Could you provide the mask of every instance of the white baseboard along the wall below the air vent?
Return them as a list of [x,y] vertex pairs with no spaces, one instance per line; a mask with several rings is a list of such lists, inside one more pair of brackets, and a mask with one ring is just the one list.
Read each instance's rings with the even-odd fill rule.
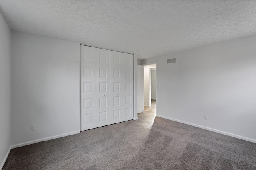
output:
[[189,123],[189,122],[181,121],[181,120],[178,120],[178,119],[172,119],[172,118],[170,118],[170,117],[165,117],[165,116],[161,116],[161,115],[157,115],[157,116],[158,116],[158,117],[162,117],[162,118],[164,118],[164,119],[168,119],[168,120],[172,120],[172,121],[184,123],[184,124],[187,124],[187,125],[199,127],[199,128],[202,128],[202,129],[206,129],[206,130],[208,130],[208,131],[213,131],[213,132],[216,132],[216,133],[221,133],[221,134],[223,134],[223,135],[228,135],[228,136],[231,136],[231,137],[235,137],[235,138],[238,138],[238,139],[243,139],[243,140],[245,140],[245,141],[249,141],[249,142],[256,143],[256,139],[251,139],[251,138],[243,137],[243,136],[236,135],[236,134],[233,134],[233,133],[228,133],[228,132],[220,131],[220,130],[217,130],[217,129],[212,129],[212,128],[210,128],[210,127],[205,127],[205,126],[201,126],[201,125],[196,125],[196,124],[194,124],[194,123]]

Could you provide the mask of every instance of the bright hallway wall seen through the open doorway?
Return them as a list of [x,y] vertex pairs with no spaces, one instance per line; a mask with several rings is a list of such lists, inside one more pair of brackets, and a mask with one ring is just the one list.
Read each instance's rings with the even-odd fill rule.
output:
[[156,64],[144,66],[144,106],[149,106],[149,102],[151,100],[149,98],[149,90],[150,90],[149,69],[150,68],[156,68]]

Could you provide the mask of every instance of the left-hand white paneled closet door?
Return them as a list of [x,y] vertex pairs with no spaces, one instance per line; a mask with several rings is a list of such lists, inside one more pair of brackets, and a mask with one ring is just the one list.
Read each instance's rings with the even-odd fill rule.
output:
[[110,51],[81,45],[81,131],[110,124]]

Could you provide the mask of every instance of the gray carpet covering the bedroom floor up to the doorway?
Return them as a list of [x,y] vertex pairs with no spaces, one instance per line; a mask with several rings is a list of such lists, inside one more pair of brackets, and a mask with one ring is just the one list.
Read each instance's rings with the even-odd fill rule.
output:
[[4,170],[256,170],[256,143],[154,117],[12,149]]

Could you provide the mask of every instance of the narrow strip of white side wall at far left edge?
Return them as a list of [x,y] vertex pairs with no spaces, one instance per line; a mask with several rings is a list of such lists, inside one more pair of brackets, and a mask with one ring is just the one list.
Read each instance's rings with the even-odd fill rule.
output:
[[0,169],[11,146],[11,30],[0,13]]

